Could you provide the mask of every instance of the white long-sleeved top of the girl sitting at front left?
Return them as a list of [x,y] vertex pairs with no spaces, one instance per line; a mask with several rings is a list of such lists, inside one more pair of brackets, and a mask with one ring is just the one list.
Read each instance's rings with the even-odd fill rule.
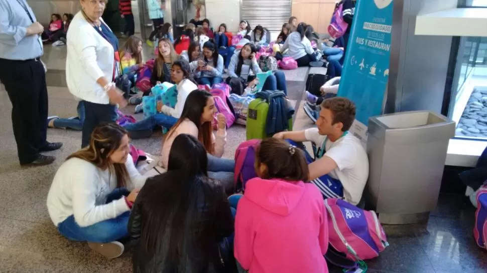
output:
[[[147,177],[136,169],[132,157],[127,162],[127,189],[141,188]],[[59,167],[47,195],[47,210],[57,226],[71,215],[79,226],[89,226],[129,211],[125,198],[105,204],[106,197],[116,188],[116,177],[92,163],[71,158]]]

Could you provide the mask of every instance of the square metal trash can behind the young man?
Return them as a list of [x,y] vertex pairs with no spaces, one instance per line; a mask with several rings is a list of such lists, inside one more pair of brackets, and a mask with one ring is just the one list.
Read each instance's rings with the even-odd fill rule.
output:
[[455,122],[428,111],[369,119],[368,205],[385,224],[425,223],[436,208]]

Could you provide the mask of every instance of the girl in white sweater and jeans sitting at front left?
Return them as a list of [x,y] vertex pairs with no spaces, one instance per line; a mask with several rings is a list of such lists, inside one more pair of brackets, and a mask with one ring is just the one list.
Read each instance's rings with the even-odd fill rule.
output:
[[47,196],[49,216],[59,233],[88,241],[108,258],[124,252],[118,240],[129,235],[130,210],[146,182],[129,151],[124,128],[115,123],[97,126],[89,145],[58,169]]

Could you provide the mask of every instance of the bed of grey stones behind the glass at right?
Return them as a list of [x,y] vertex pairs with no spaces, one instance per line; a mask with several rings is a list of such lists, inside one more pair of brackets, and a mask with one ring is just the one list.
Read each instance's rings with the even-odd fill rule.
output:
[[487,87],[475,87],[456,127],[457,136],[487,138]]

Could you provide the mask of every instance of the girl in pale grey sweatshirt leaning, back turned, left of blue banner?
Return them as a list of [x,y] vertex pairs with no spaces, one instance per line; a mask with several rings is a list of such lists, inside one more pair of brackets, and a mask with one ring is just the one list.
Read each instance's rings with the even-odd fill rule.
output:
[[296,60],[299,67],[309,66],[310,62],[316,61],[311,42],[305,36],[306,26],[306,23],[299,23],[296,31],[288,36],[281,49],[282,52],[289,49],[286,55]]

